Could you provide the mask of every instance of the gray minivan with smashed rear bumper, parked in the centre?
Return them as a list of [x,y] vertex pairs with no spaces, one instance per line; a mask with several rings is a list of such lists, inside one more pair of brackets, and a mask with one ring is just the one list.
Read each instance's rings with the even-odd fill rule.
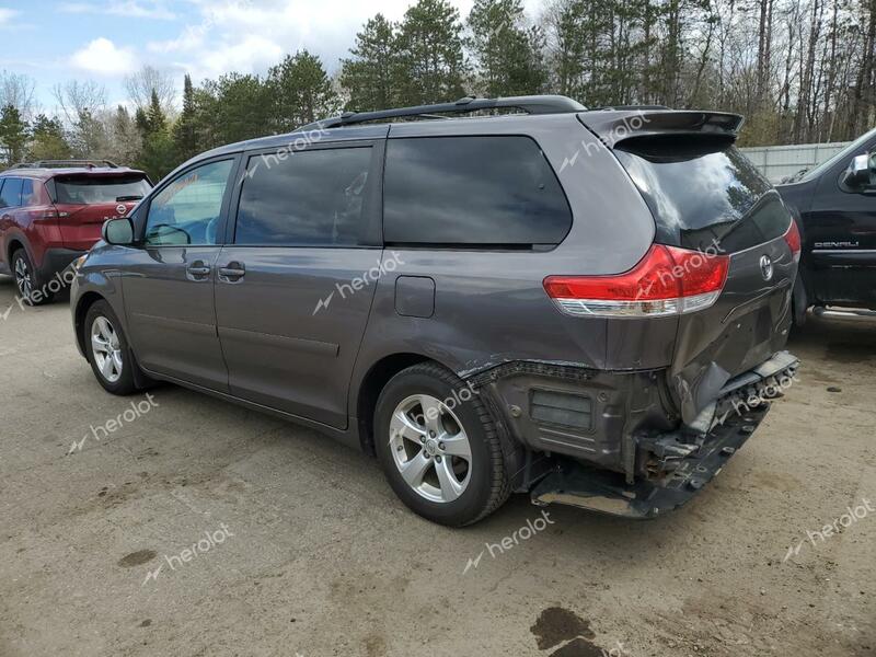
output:
[[740,125],[469,97],[222,147],[76,263],[76,339],[111,393],[170,381],[376,454],[436,522],[512,492],[654,517],[797,367],[796,226]]

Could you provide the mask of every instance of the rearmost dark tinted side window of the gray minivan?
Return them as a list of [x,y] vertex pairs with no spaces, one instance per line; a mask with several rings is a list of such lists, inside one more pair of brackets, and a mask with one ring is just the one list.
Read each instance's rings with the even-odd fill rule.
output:
[[527,137],[390,139],[383,237],[389,243],[558,244],[572,212]]

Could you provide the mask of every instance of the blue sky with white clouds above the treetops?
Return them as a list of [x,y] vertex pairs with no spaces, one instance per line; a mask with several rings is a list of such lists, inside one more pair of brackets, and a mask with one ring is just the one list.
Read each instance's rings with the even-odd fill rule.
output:
[[[463,18],[472,0],[451,0]],[[264,72],[308,48],[336,70],[356,32],[378,12],[399,20],[412,0],[0,0],[0,69],[36,81],[43,110],[69,80],[126,100],[124,78],[143,65],[195,82],[228,71]],[[539,0],[527,7],[538,8]]]

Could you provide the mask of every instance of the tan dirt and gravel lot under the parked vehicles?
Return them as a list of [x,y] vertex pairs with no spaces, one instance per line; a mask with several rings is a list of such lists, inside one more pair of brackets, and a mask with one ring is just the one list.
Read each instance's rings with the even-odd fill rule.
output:
[[[0,277],[0,316],[12,301]],[[104,393],[66,303],[14,306],[0,656],[876,655],[876,325],[817,322],[792,349],[800,381],[681,511],[546,523],[517,497],[453,531],[310,430]]]

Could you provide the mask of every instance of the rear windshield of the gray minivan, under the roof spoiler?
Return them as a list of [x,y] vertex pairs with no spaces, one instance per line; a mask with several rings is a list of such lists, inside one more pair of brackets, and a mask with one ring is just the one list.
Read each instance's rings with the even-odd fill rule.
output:
[[614,152],[648,204],[660,243],[736,252],[791,226],[772,185],[726,138],[629,139]]

